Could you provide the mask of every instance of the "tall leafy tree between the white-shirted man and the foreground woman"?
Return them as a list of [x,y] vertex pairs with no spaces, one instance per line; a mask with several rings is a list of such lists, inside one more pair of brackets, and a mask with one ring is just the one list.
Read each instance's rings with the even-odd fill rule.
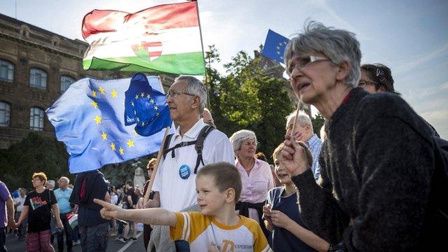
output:
[[259,67],[260,58],[238,52],[225,64],[227,76],[221,76],[211,63],[218,62],[214,45],[207,52],[207,82],[210,109],[219,130],[229,137],[237,130],[253,130],[258,151],[267,157],[283,141],[285,117],[293,110],[283,85],[285,80],[267,76]]

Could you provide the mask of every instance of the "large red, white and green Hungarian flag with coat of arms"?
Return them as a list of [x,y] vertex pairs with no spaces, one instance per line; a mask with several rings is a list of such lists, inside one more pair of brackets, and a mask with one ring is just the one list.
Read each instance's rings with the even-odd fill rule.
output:
[[126,13],[92,10],[83,20],[90,44],[85,70],[204,75],[195,1]]

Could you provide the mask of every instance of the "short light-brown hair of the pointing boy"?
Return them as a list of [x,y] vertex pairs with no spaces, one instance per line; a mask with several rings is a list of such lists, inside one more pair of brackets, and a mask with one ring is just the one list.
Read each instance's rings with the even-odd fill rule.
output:
[[213,176],[215,186],[222,193],[229,188],[235,190],[235,203],[238,202],[241,195],[241,176],[239,175],[237,167],[228,162],[217,162],[215,164],[206,165],[197,172],[196,179],[200,176]]

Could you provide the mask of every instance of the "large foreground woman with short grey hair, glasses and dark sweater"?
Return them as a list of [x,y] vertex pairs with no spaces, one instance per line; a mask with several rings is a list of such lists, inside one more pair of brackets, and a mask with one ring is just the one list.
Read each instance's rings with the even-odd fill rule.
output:
[[441,153],[398,95],[356,87],[360,57],[354,34],[316,22],[286,46],[295,94],[328,120],[319,186],[304,149],[289,136],[284,142],[300,214],[330,250],[431,250],[445,236],[435,230],[447,227],[446,191],[432,179],[444,168]]

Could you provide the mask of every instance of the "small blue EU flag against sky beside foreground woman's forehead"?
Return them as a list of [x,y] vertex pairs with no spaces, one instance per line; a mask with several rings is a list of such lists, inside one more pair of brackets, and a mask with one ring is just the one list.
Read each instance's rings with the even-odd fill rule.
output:
[[285,48],[288,42],[288,38],[269,29],[261,54],[274,59],[276,62],[283,63],[283,55],[285,54]]

